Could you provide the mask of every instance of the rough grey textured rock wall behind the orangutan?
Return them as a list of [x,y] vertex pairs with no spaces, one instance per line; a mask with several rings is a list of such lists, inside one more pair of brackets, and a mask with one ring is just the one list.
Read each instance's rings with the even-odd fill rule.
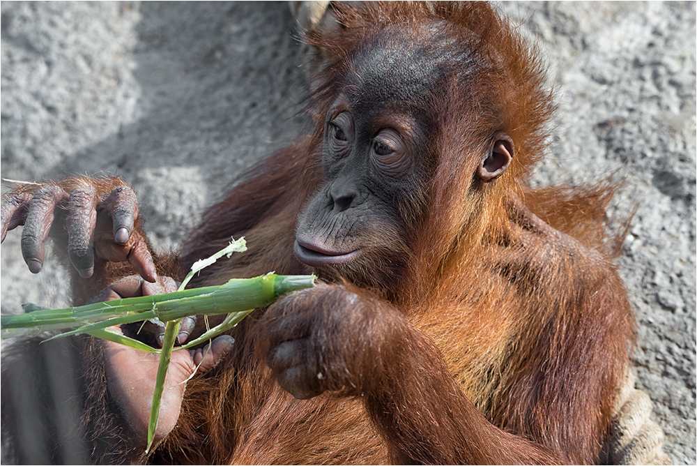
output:
[[[504,3],[538,36],[560,93],[540,183],[629,180],[640,207],[620,260],[638,318],[637,384],[675,463],[695,460],[695,3]],[[1,174],[115,173],[146,230],[176,247],[236,174],[305,128],[284,3],[3,1]],[[1,251],[2,312],[67,303],[19,232]]]

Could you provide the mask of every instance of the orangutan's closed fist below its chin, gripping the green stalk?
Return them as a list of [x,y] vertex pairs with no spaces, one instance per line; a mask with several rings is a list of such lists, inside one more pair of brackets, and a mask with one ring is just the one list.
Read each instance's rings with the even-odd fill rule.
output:
[[[257,350],[295,398],[324,391],[357,396],[379,379],[385,356],[411,332],[388,303],[342,285],[318,285],[273,303],[259,324]],[[399,354],[399,353],[397,353]]]

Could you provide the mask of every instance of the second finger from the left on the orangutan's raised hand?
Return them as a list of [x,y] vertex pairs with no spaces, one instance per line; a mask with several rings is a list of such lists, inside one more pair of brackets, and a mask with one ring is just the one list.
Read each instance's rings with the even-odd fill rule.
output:
[[44,241],[51,230],[56,204],[66,200],[68,193],[59,186],[38,190],[29,202],[29,211],[22,230],[22,257],[31,273],[39,273],[44,261]]

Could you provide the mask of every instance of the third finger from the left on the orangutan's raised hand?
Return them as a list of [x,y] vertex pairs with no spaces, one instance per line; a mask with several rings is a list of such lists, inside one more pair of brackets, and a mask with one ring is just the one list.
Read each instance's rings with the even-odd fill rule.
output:
[[85,184],[70,193],[68,257],[82,278],[94,272],[94,227],[97,223],[97,191]]

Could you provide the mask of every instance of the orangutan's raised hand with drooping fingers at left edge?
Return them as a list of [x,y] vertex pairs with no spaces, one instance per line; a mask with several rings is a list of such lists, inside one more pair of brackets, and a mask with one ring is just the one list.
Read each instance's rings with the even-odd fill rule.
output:
[[95,259],[128,261],[155,283],[157,273],[146,236],[138,227],[138,202],[130,186],[116,177],[75,176],[55,183],[27,183],[3,196],[2,236],[24,225],[22,257],[32,273],[41,271],[44,243],[51,236],[83,278]]

